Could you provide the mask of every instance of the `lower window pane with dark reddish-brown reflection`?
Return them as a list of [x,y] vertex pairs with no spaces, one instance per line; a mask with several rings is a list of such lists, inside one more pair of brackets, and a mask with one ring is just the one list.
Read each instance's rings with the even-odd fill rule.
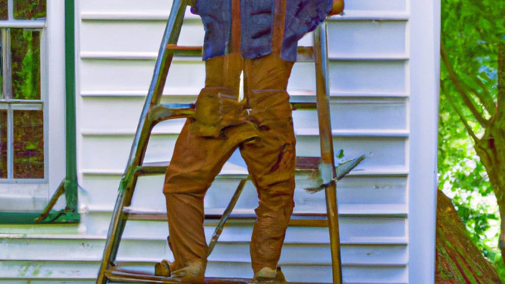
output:
[[42,111],[14,111],[14,178],[44,178]]

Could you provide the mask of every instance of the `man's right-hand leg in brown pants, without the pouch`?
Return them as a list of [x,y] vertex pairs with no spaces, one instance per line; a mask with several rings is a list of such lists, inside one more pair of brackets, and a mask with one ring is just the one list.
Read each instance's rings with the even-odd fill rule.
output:
[[286,92],[292,66],[278,55],[244,62],[249,119],[260,129],[259,138],[240,147],[260,199],[250,245],[255,277],[264,268],[275,277],[294,206],[295,136]]

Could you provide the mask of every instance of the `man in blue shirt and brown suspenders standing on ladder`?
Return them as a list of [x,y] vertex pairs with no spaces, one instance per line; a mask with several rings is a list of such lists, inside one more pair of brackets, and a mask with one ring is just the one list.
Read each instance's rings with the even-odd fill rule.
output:
[[[259,196],[250,245],[255,280],[284,280],[277,271],[293,211],[295,135],[286,92],[297,41],[343,0],[196,0],[192,12],[205,27],[205,87],[195,118],[175,145],[163,193],[175,261],[156,274],[167,280],[204,282],[207,243],[204,196],[237,149]],[[240,73],[244,100],[238,100]]]

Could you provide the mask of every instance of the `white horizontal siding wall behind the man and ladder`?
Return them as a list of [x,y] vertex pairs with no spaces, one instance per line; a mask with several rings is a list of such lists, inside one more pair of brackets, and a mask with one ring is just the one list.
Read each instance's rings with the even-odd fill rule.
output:
[[[367,155],[362,165],[338,183],[343,276],[346,282],[373,279],[377,283],[407,283],[408,21],[405,11],[402,19],[395,16],[380,23],[371,21],[378,13],[369,4],[358,6],[361,11],[351,10],[350,4],[346,11],[349,20],[337,16],[328,22],[335,149],[343,149],[347,159]],[[142,11],[134,10],[138,6],[135,3],[131,3],[132,10],[126,10],[127,5],[122,4],[122,11],[114,7],[105,11],[107,8],[95,6],[92,1],[82,3],[79,168],[81,185],[88,192],[88,210],[96,212],[108,212],[114,204],[165,28],[166,15],[156,9],[160,6],[153,4],[153,11],[157,12],[147,16],[146,6],[150,4],[142,4]],[[164,8],[167,13],[168,8]],[[201,22],[194,15],[187,16],[180,44],[201,45]],[[311,35],[300,44],[312,44]],[[193,102],[204,79],[203,62],[175,58],[164,101]],[[314,90],[314,64],[295,64],[288,85],[292,100],[314,100]],[[182,124],[183,120],[177,120],[155,128],[146,161],[171,158]],[[294,124],[297,155],[318,156],[315,111],[295,111]],[[227,205],[238,179],[246,174],[243,166],[239,155],[234,155],[223,169],[224,175],[209,190],[205,203],[208,210]],[[141,178],[132,207],[164,212],[162,184],[163,176]],[[297,177],[295,212],[325,212],[324,194],[309,195],[304,184],[311,183],[307,177]],[[257,200],[249,182],[236,208],[252,212]],[[127,232],[132,232],[129,225]],[[250,276],[251,225],[234,224],[224,230],[221,243],[209,259],[207,275]],[[135,238],[155,238],[165,247],[166,224],[161,222],[159,226],[162,228],[156,232],[146,227],[149,233],[135,233]],[[209,226],[208,234],[211,233]],[[313,254],[309,256],[304,251]],[[170,252],[163,252],[170,257]],[[380,260],[378,252],[382,255]],[[327,228],[289,228],[280,262],[288,279],[330,281],[329,253]],[[122,257],[126,256],[120,253],[118,258]],[[147,253],[138,251],[136,257],[141,260]],[[135,256],[131,258],[134,260]],[[156,257],[150,259],[154,261]],[[311,271],[315,270],[320,271],[318,279],[311,278]]]

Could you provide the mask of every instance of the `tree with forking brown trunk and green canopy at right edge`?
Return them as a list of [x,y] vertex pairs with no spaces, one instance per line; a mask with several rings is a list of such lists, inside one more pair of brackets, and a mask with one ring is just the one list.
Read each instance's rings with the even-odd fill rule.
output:
[[[442,0],[441,107],[472,140],[501,217],[505,259],[505,1]],[[446,104],[446,105],[445,105]],[[447,114],[445,113],[445,114]],[[441,115],[443,115],[441,111]],[[455,120],[455,117],[441,116]],[[449,122],[450,123],[450,122]],[[461,135],[462,133],[456,133]],[[442,138],[443,139],[443,138]],[[486,190],[484,190],[485,193]]]

